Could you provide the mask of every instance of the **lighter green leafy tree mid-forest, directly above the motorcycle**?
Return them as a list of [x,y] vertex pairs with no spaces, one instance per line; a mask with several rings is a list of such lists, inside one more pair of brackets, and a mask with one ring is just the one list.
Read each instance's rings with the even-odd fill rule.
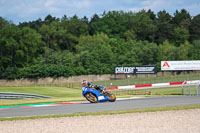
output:
[[113,53],[107,35],[81,36],[76,52],[78,65],[83,66],[88,74],[111,72]]

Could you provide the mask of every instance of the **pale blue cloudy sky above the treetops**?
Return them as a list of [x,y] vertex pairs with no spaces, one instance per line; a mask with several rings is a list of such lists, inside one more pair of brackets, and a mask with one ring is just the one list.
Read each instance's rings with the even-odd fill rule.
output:
[[66,15],[89,19],[104,11],[133,11],[151,9],[154,13],[166,10],[173,15],[186,9],[191,16],[200,14],[200,0],[0,0],[0,16],[15,24],[44,19],[47,15],[62,18]]

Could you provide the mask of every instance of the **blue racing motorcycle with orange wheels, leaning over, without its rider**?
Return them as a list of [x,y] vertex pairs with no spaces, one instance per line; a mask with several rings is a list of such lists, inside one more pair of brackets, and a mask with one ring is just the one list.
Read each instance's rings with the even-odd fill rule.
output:
[[103,90],[101,93],[100,91],[96,90],[95,88],[82,88],[82,95],[90,102],[90,103],[97,103],[97,102],[114,102],[116,100],[115,95],[108,93],[106,88],[101,86]]

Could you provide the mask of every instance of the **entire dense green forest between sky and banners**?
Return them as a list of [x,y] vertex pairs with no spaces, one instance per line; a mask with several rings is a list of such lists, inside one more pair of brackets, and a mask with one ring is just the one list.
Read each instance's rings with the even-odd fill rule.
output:
[[0,79],[110,74],[115,66],[200,59],[200,14],[109,11],[13,24],[0,17]]

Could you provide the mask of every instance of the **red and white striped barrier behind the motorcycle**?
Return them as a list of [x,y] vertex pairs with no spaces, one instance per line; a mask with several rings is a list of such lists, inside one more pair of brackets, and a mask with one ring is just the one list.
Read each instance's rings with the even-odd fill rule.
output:
[[182,81],[182,82],[170,82],[170,83],[157,83],[157,84],[144,84],[144,85],[129,85],[129,86],[115,86],[108,87],[108,90],[129,90],[129,89],[143,89],[143,88],[155,88],[155,87],[168,87],[168,86],[181,86],[182,84],[196,84],[200,83],[200,80]]

